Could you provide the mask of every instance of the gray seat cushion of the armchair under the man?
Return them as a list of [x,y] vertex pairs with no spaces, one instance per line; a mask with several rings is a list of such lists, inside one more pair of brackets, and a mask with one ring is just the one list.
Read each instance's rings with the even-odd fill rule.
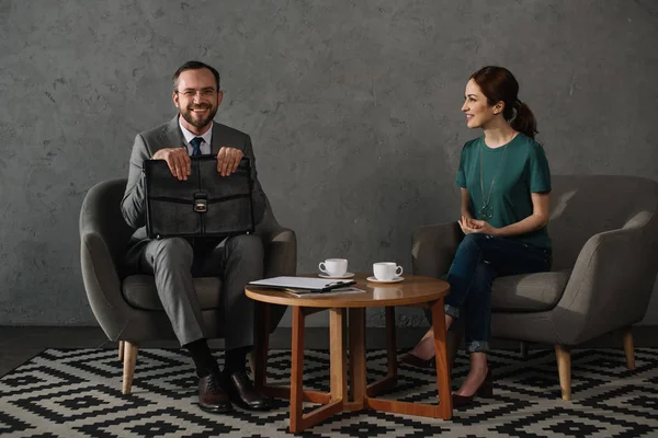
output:
[[[198,297],[201,310],[212,310],[222,307],[222,281],[217,277],[194,278],[194,289]],[[143,310],[163,311],[162,303],[156,290],[156,281],[151,275],[131,275],[123,280],[122,293],[134,308]]]

